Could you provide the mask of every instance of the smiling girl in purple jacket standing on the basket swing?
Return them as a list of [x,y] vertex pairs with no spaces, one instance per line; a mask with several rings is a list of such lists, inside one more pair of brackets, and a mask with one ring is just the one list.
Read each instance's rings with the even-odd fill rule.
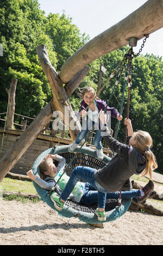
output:
[[[105,100],[101,100],[98,97],[95,98],[96,92],[92,87],[84,88],[82,92],[82,102],[79,110],[80,117],[82,118],[82,130],[78,134],[77,139],[70,145],[69,151],[73,152],[79,143],[86,137],[89,130],[95,125],[95,138],[93,139],[93,144],[96,146],[97,151],[97,158],[102,160],[104,157],[103,150],[102,150],[102,134],[101,128],[99,124],[99,114],[101,111],[106,111],[107,114],[111,114],[112,117],[117,118],[117,120],[121,121],[122,116],[120,116],[119,112],[115,108],[110,108],[106,106]],[[92,102],[93,100],[93,102]],[[91,103],[92,102],[92,103]],[[91,103],[91,104],[90,104]],[[87,106],[90,104],[89,108],[85,111]],[[108,112],[109,111],[109,112]],[[86,115],[87,114],[87,115]]]

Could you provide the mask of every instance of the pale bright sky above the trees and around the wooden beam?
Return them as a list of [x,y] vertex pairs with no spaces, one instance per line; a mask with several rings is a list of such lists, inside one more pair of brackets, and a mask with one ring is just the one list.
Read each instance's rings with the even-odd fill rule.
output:
[[[89,34],[90,40],[106,29],[123,20],[130,13],[141,7],[147,0],[38,0],[40,9],[49,13],[72,17],[81,33]],[[139,52],[143,39],[133,48]],[[163,28],[149,35],[142,54],[154,54],[163,57]]]

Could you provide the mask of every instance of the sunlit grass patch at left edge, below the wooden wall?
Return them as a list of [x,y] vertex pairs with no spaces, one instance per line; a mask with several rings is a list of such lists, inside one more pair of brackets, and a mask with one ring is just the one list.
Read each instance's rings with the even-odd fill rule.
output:
[[12,178],[4,178],[0,183],[0,190],[37,194],[32,182]]

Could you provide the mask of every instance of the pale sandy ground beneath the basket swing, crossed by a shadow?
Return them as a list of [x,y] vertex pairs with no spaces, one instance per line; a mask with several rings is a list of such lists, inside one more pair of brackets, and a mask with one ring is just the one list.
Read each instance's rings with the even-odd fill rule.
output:
[[103,229],[60,217],[46,203],[0,200],[0,245],[163,245],[163,217],[128,211]]

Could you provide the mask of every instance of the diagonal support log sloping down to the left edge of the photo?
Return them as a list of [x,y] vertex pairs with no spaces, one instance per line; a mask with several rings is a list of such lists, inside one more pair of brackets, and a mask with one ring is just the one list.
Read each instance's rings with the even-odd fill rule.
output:
[[28,126],[28,128],[0,159],[0,182],[11,170],[11,168],[18,162],[32,142],[37,138],[43,127],[49,123],[54,109],[55,108],[51,100],[51,102],[45,106],[45,108],[40,112],[39,115],[37,115],[30,126]]

